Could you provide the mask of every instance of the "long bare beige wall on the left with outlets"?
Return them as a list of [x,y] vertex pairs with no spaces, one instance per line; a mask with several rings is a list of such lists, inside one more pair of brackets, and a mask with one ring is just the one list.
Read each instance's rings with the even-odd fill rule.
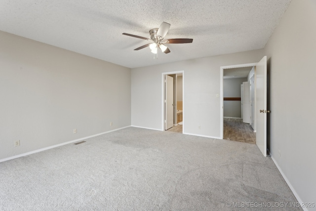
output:
[[0,159],[130,126],[130,102],[129,68],[0,32]]

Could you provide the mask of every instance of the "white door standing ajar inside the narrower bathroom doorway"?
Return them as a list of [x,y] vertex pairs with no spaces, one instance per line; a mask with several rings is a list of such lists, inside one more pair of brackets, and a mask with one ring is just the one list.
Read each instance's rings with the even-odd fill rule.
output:
[[165,130],[173,127],[173,78],[165,76]]

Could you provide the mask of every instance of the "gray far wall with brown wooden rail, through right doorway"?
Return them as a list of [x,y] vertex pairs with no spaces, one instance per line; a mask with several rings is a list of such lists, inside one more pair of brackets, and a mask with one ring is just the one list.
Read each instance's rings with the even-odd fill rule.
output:
[[[247,78],[223,79],[223,97],[240,97],[240,85],[246,81]],[[241,118],[241,101],[224,100],[223,106],[224,117]]]

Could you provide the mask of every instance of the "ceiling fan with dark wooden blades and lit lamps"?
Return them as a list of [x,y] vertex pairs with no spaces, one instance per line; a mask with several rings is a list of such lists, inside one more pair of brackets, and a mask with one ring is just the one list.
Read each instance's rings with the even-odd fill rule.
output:
[[139,38],[139,39],[143,39],[143,40],[147,40],[147,41],[152,42],[152,43],[144,44],[144,45],[142,45],[134,50],[140,50],[140,49],[143,49],[143,48],[149,46],[150,49],[152,50],[152,52],[155,54],[157,54],[158,48],[164,53],[170,53],[169,48],[165,45],[166,43],[171,44],[171,43],[191,43],[191,42],[193,42],[193,39],[183,39],[183,38],[164,39],[164,37],[166,36],[166,34],[169,31],[169,28],[170,28],[170,24],[168,24],[166,22],[162,22],[162,24],[160,25],[159,28],[151,29],[149,31],[150,39],[140,37],[137,35],[127,34],[127,33],[123,33],[123,35],[127,35],[130,37]]

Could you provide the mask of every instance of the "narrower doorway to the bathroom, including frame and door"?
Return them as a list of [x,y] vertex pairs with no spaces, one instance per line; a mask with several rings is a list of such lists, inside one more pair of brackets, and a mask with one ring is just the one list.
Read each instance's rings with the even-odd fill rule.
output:
[[162,130],[184,132],[184,71],[162,73]]

